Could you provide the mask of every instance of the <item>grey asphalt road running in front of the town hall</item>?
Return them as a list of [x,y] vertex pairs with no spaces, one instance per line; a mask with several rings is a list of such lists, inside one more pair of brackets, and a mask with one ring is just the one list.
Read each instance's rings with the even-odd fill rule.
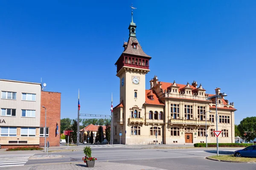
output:
[[[236,148],[221,148],[220,155],[230,155]],[[29,160],[29,164],[82,161],[82,151],[50,153],[61,159]],[[125,147],[92,148],[97,161],[137,164],[166,170],[256,170],[256,164],[211,161],[206,156],[216,155],[215,149],[131,149]]]

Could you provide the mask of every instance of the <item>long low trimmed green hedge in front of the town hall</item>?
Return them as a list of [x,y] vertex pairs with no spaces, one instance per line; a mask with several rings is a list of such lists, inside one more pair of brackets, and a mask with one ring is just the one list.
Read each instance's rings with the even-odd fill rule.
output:
[[[247,147],[253,145],[248,143],[219,143],[219,147]],[[208,147],[217,147],[217,143],[208,143]],[[194,147],[206,147],[206,143],[195,143]]]

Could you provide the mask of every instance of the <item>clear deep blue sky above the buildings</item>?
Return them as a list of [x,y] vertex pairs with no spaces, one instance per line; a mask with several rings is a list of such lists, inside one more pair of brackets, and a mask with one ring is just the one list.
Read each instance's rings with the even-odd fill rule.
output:
[[[255,116],[256,1],[134,0],[137,39],[152,57],[149,81],[216,87],[234,102],[235,122]],[[0,2],[1,79],[47,83],[61,92],[61,118],[110,114],[119,103],[114,63],[128,40],[130,1]]]

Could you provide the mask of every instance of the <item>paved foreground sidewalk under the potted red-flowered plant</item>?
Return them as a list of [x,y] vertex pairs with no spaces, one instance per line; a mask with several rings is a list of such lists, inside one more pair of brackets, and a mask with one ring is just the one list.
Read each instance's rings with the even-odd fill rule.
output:
[[95,162],[94,167],[87,167],[86,163],[47,164],[27,167],[5,167],[5,170],[164,170],[156,167],[147,167],[133,164],[119,164],[113,162]]

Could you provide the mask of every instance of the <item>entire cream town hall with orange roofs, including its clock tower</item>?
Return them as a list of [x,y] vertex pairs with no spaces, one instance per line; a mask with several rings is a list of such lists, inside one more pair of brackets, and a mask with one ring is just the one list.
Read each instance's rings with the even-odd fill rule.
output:
[[[133,17],[133,16],[132,16]],[[136,24],[129,26],[129,40],[115,65],[119,77],[120,103],[113,108],[113,142],[122,144],[186,144],[216,142],[216,123],[221,135],[219,142],[235,142],[234,108],[220,88],[207,94],[196,81],[177,84],[160,82],[157,76],[145,89],[145,76],[150,71],[150,56],[145,54],[136,38]],[[216,119],[215,98],[218,95]],[[206,133],[207,131],[207,133]]]

